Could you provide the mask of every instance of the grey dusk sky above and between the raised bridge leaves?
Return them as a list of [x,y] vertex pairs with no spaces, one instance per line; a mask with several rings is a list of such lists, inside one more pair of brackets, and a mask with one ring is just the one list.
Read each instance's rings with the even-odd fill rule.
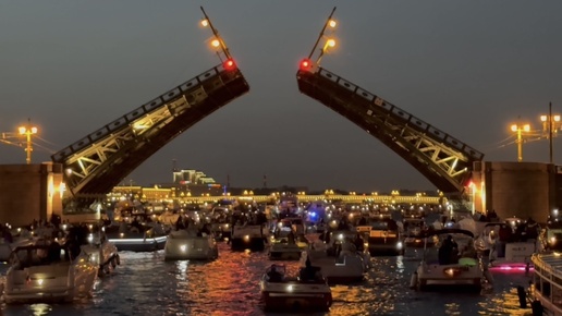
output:
[[[485,154],[516,161],[512,123],[562,113],[561,1],[0,0],[0,132],[38,126],[33,162],[220,63],[203,5],[251,90],[127,175],[171,182],[172,160],[232,186],[372,192],[435,186],[357,125],[301,94],[298,62],[333,7],[322,66]],[[548,139],[523,145],[548,162]],[[19,138],[4,141],[17,142]],[[562,165],[562,137],[553,139]],[[0,143],[0,163],[25,163]]]

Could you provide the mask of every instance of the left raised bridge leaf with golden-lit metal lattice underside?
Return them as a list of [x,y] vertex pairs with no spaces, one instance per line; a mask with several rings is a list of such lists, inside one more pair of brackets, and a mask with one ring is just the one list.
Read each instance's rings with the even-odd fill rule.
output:
[[51,158],[63,163],[75,197],[105,195],[170,141],[248,90],[239,69],[215,66]]

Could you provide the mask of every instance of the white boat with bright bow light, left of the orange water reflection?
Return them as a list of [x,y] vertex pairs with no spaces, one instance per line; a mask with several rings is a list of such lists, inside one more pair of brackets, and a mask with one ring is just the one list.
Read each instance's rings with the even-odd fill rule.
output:
[[193,229],[170,232],[164,246],[164,260],[213,260],[219,257],[212,234]]

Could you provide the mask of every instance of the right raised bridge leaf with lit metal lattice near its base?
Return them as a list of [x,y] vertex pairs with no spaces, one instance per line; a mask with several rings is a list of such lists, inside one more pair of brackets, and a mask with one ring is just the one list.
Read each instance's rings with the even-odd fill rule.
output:
[[464,191],[484,154],[351,82],[318,68],[296,74],[301,93],[377,137],[442,192]]

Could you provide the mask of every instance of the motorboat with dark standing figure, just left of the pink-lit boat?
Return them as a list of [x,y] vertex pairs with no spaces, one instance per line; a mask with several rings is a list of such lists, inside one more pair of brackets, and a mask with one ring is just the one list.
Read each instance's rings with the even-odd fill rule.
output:
[[[492,282],[474,248],[474,234],[463,229],[428,230],[425,239],[438,238],[433,246],[424,247],[422,263],[414,271],[411,288],[457,287],[480,290],[482,282]],[[460,253],[459,250],[462,250]]]

